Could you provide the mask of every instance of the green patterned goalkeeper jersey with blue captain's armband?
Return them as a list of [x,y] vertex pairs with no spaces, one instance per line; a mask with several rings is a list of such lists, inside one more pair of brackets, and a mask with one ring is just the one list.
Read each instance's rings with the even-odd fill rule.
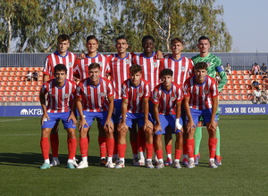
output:
[[215,56],[212,53],[208,53],[205,57],[200,57],[200,54],[197,56],[194,56],[191,58],[194,64],[197,64],[197,62],[203,61],[207,63],[207,75],[216,78],[217,72],[219,73],[219,76],[221,77],[221,82],[218,86],[219,93],[222,91],[223,86],[225,86],[227,82],[227,76],[226,73],[222,67],[222,61],[219,57]]

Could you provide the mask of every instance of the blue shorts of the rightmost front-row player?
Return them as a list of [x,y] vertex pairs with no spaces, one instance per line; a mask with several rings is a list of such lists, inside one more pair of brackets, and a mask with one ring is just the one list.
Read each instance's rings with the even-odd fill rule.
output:
[[[196,126],[197,126],[200,116],[203,116],[204,125],[210,122],[211,120],[212,109],[197,110],[197,109],[190,108],[190,111],[191,111],[191,115]],[[214,119],[215,122],[217,122],[217,119],[218,119],[218,115],[216,114],[215,119]],[[187,118],[187,121],[188,121],[188,118]]]

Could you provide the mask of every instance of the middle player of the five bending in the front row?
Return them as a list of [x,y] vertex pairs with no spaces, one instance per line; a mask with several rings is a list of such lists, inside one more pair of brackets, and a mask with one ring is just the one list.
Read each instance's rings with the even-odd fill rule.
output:
[[134,64],[130,67],[130,78],[121,87],[121,121],[118,125],[118,155],[119,161],[115,168],[125,167],[126,135],[134,122],[142,128],[146,135],[147,168],[154,168],[153,156],[153,124],[149,114],[150,85],[141,78],[141,67]]

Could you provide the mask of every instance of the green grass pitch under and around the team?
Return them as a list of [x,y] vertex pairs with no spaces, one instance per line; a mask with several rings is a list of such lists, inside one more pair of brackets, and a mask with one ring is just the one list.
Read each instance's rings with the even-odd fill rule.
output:
[[61,165],[41,170],[40,119],[0,118],[0,195],[267,195],[267,127],[267,116],[221,116],[223,159],[217,169],[208,167],[205,128],[200,164],[193,169],[132,167],[129,141],[125,168],[99,167],[96,123],[89,134],[89,167],[67,169],[61,127]]

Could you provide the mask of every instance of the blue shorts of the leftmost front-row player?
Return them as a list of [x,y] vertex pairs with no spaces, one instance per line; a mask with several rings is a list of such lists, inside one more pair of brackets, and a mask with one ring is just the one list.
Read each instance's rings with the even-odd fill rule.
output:
[[63,122],[64,128],[76,128],[76,125],[73,126],[73,121],[72,119],[68,122],[68,118],[70,117],[71,111],[67,112],[61,112],[61,113],[50,113],[47,112],[47,115],[49,117],[49,120],[44,120],[44,124],[42,128],[53,128],[54,124],[57,121],[60,121],[60,119]]

